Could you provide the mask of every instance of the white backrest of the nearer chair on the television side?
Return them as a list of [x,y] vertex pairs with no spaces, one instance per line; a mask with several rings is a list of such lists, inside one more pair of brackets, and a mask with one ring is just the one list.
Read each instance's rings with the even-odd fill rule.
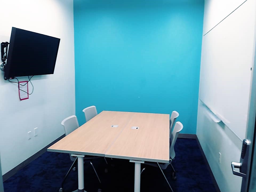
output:
[[[61,125],[63,125],[65,130],[65,135],[70,134],[72,131],[76,130],[79,127],[77,116],[71,115],[70,117],[67,117],[61,122]],[[71,154],[70,159],[71,161],[75,161],[75,157],[72,157]]]

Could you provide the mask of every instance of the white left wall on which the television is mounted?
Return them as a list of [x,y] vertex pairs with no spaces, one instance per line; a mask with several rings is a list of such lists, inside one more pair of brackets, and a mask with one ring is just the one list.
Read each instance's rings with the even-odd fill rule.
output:
[[[75,114],[74,22],[72,0],[0,1],[0,41],[10,41],[11,27],[61,39],[53,75],[32,78],[34,93],[19,101],[16,83],[0,71],[0,151],[2,174],[64,134],[60,122]],[[31,91],[31,85],[29,85]],[[27,132],[38,127],[38,136]]]

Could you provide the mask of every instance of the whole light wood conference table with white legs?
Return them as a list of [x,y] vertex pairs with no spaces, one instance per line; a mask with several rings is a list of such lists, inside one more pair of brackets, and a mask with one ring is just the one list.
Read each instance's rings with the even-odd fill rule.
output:
[[129,159],[140,191],[141,163],[169,163],[169,114],[102,111],[47,151],[78,157],[78,192],[84,192],[83,157]]

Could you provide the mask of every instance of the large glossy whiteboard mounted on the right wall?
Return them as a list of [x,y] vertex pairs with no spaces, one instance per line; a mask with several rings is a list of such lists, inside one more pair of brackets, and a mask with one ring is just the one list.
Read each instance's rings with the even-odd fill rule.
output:
[[240,139],[245,138],[255,51],[255,1],[203,36],[200,100]]

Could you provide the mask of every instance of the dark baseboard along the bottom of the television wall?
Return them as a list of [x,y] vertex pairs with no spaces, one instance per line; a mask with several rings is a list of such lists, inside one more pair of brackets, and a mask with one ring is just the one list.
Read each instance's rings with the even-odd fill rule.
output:
[[63,137],[65,137],[65,134],[61,135],[59,138],[55,139],[53,142],[51,142],[49,145],[45,146],[43,149],[41,149],[40,151],[38,151],[37,153],[35,153],[34,155],[32,155],[31,157],[29,157],[28,159],[26,159],[25,161],[23,161],[22,163],[20,163],[19,165],[17,165],[16,167],[14,167],[13,169],[11,169],[10,171],[8,171],[7,173],[5,173],[3,175],[3,182],[6,181],[7,179],[9,179],[11,176],[13,176],[15,173],[18,172],[18,170],[22,169],[23,167],[25,167],[26,165],[28,165],[29,163],[31,163],[32,161],[34,161],[36,158],[38,158],[40,155],[42,155],[43,153],[45,153],[47,151],[47,148],[50,147],[51,145],[53,145],[54,143],[56,143],[57,141],[59,141],[60,139],[62,139]]

